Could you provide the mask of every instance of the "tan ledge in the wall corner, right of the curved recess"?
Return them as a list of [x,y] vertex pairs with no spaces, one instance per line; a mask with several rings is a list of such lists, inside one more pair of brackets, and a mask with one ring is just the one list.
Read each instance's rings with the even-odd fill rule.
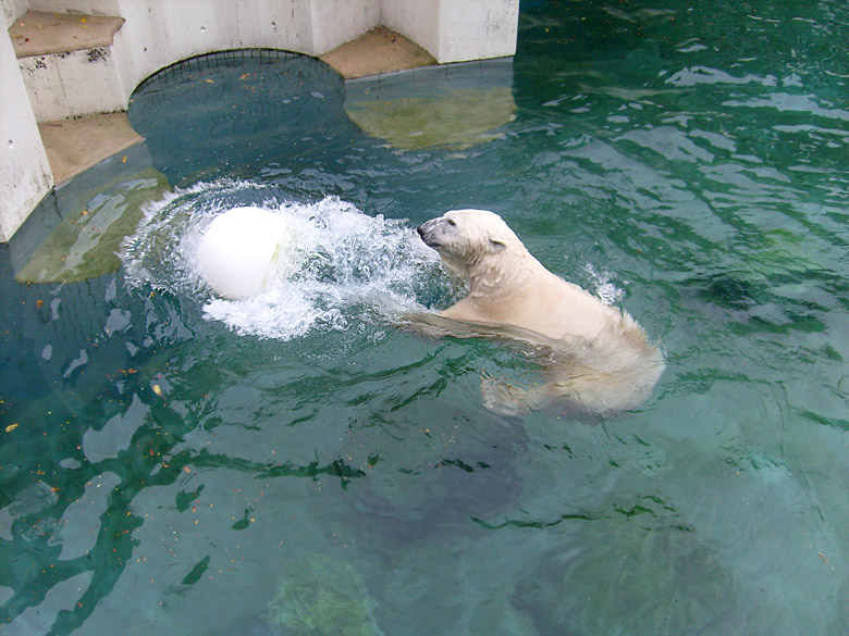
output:
[[324,53],[319,60],[332,66],[345,79],[436,64],[428,51],[385,26]]

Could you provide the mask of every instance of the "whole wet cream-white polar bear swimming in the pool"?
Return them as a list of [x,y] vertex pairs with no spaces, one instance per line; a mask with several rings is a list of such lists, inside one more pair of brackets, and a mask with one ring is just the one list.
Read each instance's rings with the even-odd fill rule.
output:
[[419,316],[422,331],[519,341],[542,369],[543,382],[526,389],[484,375],[488,407],[516,413],[565,402],[607,416],[651,395],[665,363],[640,325],[546,270],[497,214],[454,210],[418,234],[469,287],[456,304]]

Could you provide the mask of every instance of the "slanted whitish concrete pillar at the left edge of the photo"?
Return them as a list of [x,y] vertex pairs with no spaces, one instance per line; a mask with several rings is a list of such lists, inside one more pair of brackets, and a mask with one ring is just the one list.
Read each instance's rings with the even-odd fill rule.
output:
[[53,187],[53,175],[5,29],[0,34],[0,242],[5,242]]

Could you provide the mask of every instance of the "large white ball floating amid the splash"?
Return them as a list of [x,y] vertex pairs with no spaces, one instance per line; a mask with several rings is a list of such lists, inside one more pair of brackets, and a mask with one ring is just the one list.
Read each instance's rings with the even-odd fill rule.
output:
[[200,274],[223,298],[266,289],[278,248],[290,238],[285,221],[261,208],[233,208],[207,227],[197,250]]

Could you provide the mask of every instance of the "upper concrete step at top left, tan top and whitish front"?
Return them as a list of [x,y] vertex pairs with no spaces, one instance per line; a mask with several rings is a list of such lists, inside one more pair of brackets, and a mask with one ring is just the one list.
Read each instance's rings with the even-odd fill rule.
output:
[[38,122],[124,110],[113,45],[124,20],[28,11],[9,28]]

